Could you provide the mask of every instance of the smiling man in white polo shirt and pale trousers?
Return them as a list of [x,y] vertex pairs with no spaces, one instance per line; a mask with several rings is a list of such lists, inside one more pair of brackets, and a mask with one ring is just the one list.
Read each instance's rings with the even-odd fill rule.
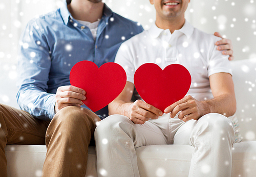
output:
[[[227,117],[236,112],[236,98],[228,57],[215,45],[220,38],[185,20],[189,0],[150,2],[156,23],[122,43],[115,58],[127,83],[95,131],[98,176],[102,169],[108,176],[139,176],[135,148],[155,144],[194,146],[189,176],[230,176],[235,134]],[[182,64],[191,74],[187,95],[164,113],[142,100],[131,102],[134,73],[147,62],[162,69]]]

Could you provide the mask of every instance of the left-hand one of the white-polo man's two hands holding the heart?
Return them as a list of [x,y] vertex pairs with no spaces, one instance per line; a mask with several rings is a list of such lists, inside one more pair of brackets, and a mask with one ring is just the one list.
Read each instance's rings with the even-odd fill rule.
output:
[[129,112],[127,113],[131,121],[137,124],[144,124],[150,119],[158,119],[163,113],[160,109],[145,103],[142,100],[137,100],[130,104]]

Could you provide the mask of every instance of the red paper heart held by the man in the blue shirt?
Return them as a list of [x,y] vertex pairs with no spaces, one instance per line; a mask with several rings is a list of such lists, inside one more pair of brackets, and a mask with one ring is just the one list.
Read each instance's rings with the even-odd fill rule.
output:
[[96,112],[122,92],[126,73],[117,63],[108,62],[98,68],[92,61],[80,61],[71,69],[70,83],[86,91],[82,102]]

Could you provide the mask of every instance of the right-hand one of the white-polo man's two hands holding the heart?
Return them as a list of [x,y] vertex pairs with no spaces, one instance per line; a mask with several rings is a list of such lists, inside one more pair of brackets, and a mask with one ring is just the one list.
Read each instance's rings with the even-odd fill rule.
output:
[[206,107],[202,102],[188,95],[168,106],[164,113],[170,113],[170,117],[174,118],[180,112],[178,118],[186,122],[191,119],[197,120],[205,115],[205,109]]

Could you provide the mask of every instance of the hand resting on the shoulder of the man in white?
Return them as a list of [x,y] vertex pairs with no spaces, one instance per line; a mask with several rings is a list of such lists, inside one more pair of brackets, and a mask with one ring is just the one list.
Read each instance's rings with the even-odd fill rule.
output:
[[231,40],[223,38],[218,32],[215,32],[214,35],[222,38],[221,40],[216,42],[216,46],[218,46],[217,49],[219,51],[222,51],[223,55],[229,55],[229,60],[234,59],[233,46]]

